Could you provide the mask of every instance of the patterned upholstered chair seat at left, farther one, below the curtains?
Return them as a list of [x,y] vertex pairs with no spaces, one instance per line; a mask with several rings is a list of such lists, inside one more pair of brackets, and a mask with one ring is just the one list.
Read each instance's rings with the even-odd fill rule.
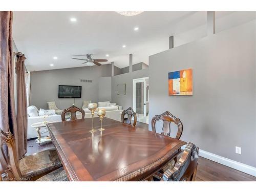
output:
[[19,169],[23,177],[41,175],[61,167],[61,161],[55,149],[50,149],[19,160]]

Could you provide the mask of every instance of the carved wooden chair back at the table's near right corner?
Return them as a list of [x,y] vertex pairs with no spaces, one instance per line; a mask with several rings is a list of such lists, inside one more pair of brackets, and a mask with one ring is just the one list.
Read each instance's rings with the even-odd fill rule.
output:
[[193,143],[187,143],[181,158],[174,168],[167,169],[161,181],[195,181],[198,165],[199,148]]

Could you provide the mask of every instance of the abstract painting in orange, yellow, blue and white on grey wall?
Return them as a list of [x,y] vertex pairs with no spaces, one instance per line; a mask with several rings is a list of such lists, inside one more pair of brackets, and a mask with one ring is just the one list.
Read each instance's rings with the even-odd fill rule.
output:
[[169,95],[193,95],[193,70],[168,73]]

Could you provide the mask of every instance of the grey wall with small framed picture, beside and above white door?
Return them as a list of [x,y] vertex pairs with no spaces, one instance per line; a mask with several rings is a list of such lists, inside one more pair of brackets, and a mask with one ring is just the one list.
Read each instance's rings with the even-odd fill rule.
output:
[[[124,73],[112,77],[112,102],[123,106],[124,109],[133,106],[133,79],[148,77],[148,69]],[[117,95],[117,84],[126,83],[126,94]]]

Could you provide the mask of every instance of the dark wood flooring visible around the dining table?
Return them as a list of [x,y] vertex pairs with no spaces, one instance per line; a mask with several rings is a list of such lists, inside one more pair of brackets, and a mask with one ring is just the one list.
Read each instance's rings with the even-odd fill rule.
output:
[[[136,125],[148,129],[148,124],[146,123],[137,122]],[[34,139],[29,140],[26,155],[31,155],[53,147],[51,142],[43,143],[38,146]],[[199,157],[196,181],[256,181],[256,177],[203,157]]]

